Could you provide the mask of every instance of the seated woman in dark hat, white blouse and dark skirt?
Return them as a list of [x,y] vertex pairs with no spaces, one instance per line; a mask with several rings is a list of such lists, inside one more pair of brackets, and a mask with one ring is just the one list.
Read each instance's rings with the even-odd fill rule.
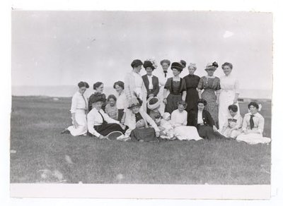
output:
[[119,121],[111,119],[108,114],[105,114],[101,107],[105,102],[105,97],[103,94],[95,93],[93,94],[93,109],[88,112],[88,132],[97,138],[103,139],[107,138],[112,132],[125,133],[125,126],[123,126]]

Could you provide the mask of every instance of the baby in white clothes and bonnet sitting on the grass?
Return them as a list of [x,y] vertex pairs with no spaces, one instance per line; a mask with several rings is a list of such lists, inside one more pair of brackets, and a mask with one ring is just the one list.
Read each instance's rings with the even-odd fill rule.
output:
[[161,126],[159,126],[159,129],[161,130],[160,137],[163,139],[175,140],[174,129],[171,124],[170,116],[171,115],[168,112],[165,112],[162,116]]

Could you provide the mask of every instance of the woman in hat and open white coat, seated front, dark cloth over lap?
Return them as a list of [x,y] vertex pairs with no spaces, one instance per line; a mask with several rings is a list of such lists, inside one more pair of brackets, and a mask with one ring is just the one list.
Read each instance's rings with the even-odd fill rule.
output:
[[154,120],[140,107],[141,102],[136,97],[129,99],[129,107],[125,109],[123,116],[125,125],[129,127],[125,136],[141,142],[156,141],[156,137],[159,137],[159,129]]

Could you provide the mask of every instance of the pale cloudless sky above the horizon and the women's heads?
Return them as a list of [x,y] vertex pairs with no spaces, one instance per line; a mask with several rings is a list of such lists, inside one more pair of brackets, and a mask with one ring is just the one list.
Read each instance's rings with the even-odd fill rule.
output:
[[219,63],[216,76],[231,62],[241,89],[272,89],[270,13],[12,11],[11,46],[12,86],[112,86],[133,59],[183,59],[200,76],[209,62]]

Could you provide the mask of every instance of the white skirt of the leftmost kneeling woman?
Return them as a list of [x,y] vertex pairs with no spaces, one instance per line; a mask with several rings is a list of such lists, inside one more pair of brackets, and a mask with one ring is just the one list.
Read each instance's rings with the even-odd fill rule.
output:
[[84,135],[88,132],[88,125],[86,121],[86,112],[83,109],[76,109],[75,113],[76,122],[79,124],[77,128],[74,126],[74,120],[73,125],[69,126],[67,129],[70,131],[71,135],[73,136],[79,136]]

